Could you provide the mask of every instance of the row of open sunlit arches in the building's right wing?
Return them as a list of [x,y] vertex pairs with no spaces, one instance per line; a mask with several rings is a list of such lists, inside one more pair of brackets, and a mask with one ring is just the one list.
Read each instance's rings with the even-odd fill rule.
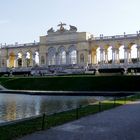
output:
[[133,44],[130,46],[120,45],[113,46],[97,46],[92,48],[92,63],[136,63],[138,61],[138,46]]

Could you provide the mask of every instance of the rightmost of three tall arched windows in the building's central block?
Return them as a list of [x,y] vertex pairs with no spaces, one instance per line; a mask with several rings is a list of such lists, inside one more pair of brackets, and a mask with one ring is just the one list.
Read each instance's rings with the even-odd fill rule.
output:
[[77,64],[77,51],[74,46],[69,48],[69,63]]

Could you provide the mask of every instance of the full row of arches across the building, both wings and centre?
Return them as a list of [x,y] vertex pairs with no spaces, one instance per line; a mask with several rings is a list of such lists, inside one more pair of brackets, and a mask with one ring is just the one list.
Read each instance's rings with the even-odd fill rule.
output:
[[[69,64],[101,64],[101,63],[136,63],[140,58],[140,47],[137,44],[129,46],[120,45],[114,47],[111,45],[93,46],[91,50],[80,50],[76,46],[49,47],[44,54],[39,51],[25,54],[18,52],[9,53],[7,60],[8,67],[29,67],[35,65],[69,65]],[[79,50],[78,50],[79,49]],[[4,66],[2,60],[2,65]]]

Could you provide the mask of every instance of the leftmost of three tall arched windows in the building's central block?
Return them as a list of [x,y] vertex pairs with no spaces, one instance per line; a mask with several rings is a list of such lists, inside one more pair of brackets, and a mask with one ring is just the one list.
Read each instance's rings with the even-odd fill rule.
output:
[[48,65],[55,65],[56,50],[51,47],[48,50]]

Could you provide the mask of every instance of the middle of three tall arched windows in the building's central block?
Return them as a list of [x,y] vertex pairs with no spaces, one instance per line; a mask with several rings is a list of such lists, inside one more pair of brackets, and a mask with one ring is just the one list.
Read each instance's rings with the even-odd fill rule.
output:
[[58,51],[58,64],[66,64],[66,51],[63,47],[61,47]]

